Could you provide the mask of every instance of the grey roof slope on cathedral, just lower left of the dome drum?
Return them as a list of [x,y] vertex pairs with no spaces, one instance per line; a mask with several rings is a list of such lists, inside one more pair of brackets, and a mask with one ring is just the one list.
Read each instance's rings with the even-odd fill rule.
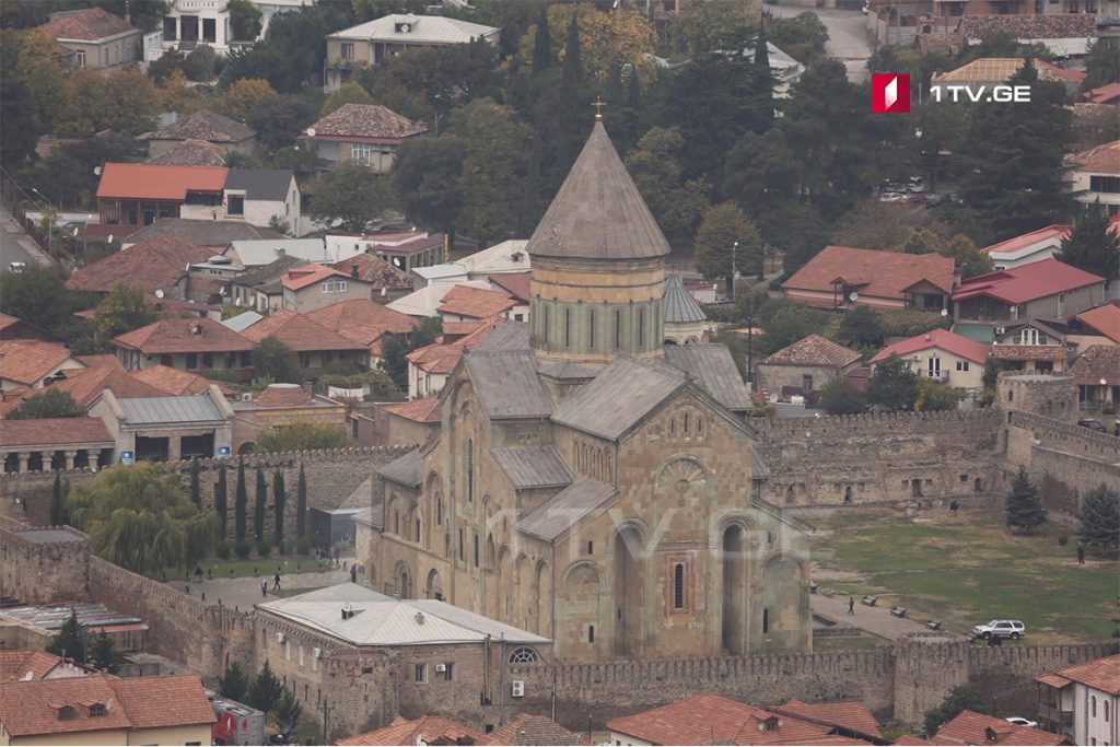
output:
[[547,418],[552,414],[552,395],[536,376],[536,356],[531,352],[480,353],[475,349],[467,353],[464,361],[478,399],[491,418]]

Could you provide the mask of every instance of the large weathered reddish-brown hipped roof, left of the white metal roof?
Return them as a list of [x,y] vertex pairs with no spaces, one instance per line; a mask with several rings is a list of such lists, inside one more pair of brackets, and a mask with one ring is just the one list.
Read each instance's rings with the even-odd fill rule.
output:
[[170,290],[189,274],[188,264],[205,262],[212,252],[181,236],[160,236],[78,268],[66,281],[71,290],[108,293],[125,284],[148,292]]

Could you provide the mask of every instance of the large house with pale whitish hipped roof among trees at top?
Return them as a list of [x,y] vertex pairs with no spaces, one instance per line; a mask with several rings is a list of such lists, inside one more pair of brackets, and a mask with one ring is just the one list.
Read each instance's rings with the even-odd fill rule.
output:
[[336,91],[355,69],[372,67],[417,47],[447,47],[482,39],[496,45],[502,29],[442,16],[393,13],[327,36],[323,87]]

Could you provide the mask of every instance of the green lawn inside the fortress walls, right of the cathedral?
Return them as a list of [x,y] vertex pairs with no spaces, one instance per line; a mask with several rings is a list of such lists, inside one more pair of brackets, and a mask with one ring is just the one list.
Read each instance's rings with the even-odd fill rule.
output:
[[[1002,617],[1021,619],[1034,643],[1107,639],[1117,615],[1116,558],[1090,553],[1076,562],[1076,532],[1046,525],[1032,536],[1010,533],[1004,514],[934,513],[928,522],[869,514],[814,517],[834,534],[814,540],[813,559],[825,569],[865,580],[827,581],[844,594],[889,595],[880,600],[935,617],[946,629]],[[1060,535],[1070,543],[1058,544]]]

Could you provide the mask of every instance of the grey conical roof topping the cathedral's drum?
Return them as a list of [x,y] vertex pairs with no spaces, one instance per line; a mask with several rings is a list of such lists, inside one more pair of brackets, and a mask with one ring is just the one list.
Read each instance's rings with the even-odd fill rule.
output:
[[603,122],[595,123],[525,250],[532,255],[591,260],[669,254],[669,242]]

